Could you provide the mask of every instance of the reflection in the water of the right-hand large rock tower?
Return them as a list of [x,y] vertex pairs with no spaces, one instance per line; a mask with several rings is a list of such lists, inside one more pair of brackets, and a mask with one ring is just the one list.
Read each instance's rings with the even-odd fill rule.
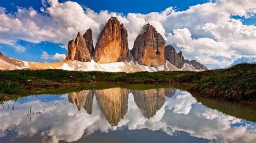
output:
[[134,102],[144,111],[143,115],[148,119],[156,115],[165,102],[164,89],[132,90],[132,94]]

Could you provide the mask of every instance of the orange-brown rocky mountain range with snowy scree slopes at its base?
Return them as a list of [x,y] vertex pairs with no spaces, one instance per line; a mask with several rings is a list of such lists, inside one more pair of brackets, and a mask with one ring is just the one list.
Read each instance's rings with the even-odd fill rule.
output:
[[0,69],[65,69],[82,71],[202,71],[207,68],[196,60],[186,60],[183,53],[166,45],[164,38],[150,24],[142,32],[130,50],[127,30],[116,17],[111,17],[100,32],[96,46],[93,46],[92,30],[83,35],[78,32],[75,40],[68,43],[66,59],[54,63],[26,62],[9,58],[0,53]]

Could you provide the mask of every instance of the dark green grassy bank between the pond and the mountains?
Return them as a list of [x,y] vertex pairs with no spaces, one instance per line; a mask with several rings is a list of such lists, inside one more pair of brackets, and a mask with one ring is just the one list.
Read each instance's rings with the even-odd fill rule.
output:
[[202,72],[106,73],[58,69],[2,71],[0,72],[0,98],[10,98],[11,95],[39,94],[59,89],[172,84],[203,97],[231,101],[255,101],[255,71],[255,64],[241,64],[228,69]]

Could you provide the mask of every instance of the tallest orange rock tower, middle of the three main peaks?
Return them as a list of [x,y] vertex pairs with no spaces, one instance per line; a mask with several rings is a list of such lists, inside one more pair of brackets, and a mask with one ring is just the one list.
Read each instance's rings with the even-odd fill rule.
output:
[[97,63],[122,62],[131,59],[128,48],[128,34],[116,17],[111,17],[100,32],[93,59]]

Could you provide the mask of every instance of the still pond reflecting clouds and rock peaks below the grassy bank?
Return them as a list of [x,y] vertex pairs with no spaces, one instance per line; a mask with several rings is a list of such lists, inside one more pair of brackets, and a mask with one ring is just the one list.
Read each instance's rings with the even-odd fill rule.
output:
[[83,90],[8,101],[0,142],[256,142],[256,124],[172,88]]

